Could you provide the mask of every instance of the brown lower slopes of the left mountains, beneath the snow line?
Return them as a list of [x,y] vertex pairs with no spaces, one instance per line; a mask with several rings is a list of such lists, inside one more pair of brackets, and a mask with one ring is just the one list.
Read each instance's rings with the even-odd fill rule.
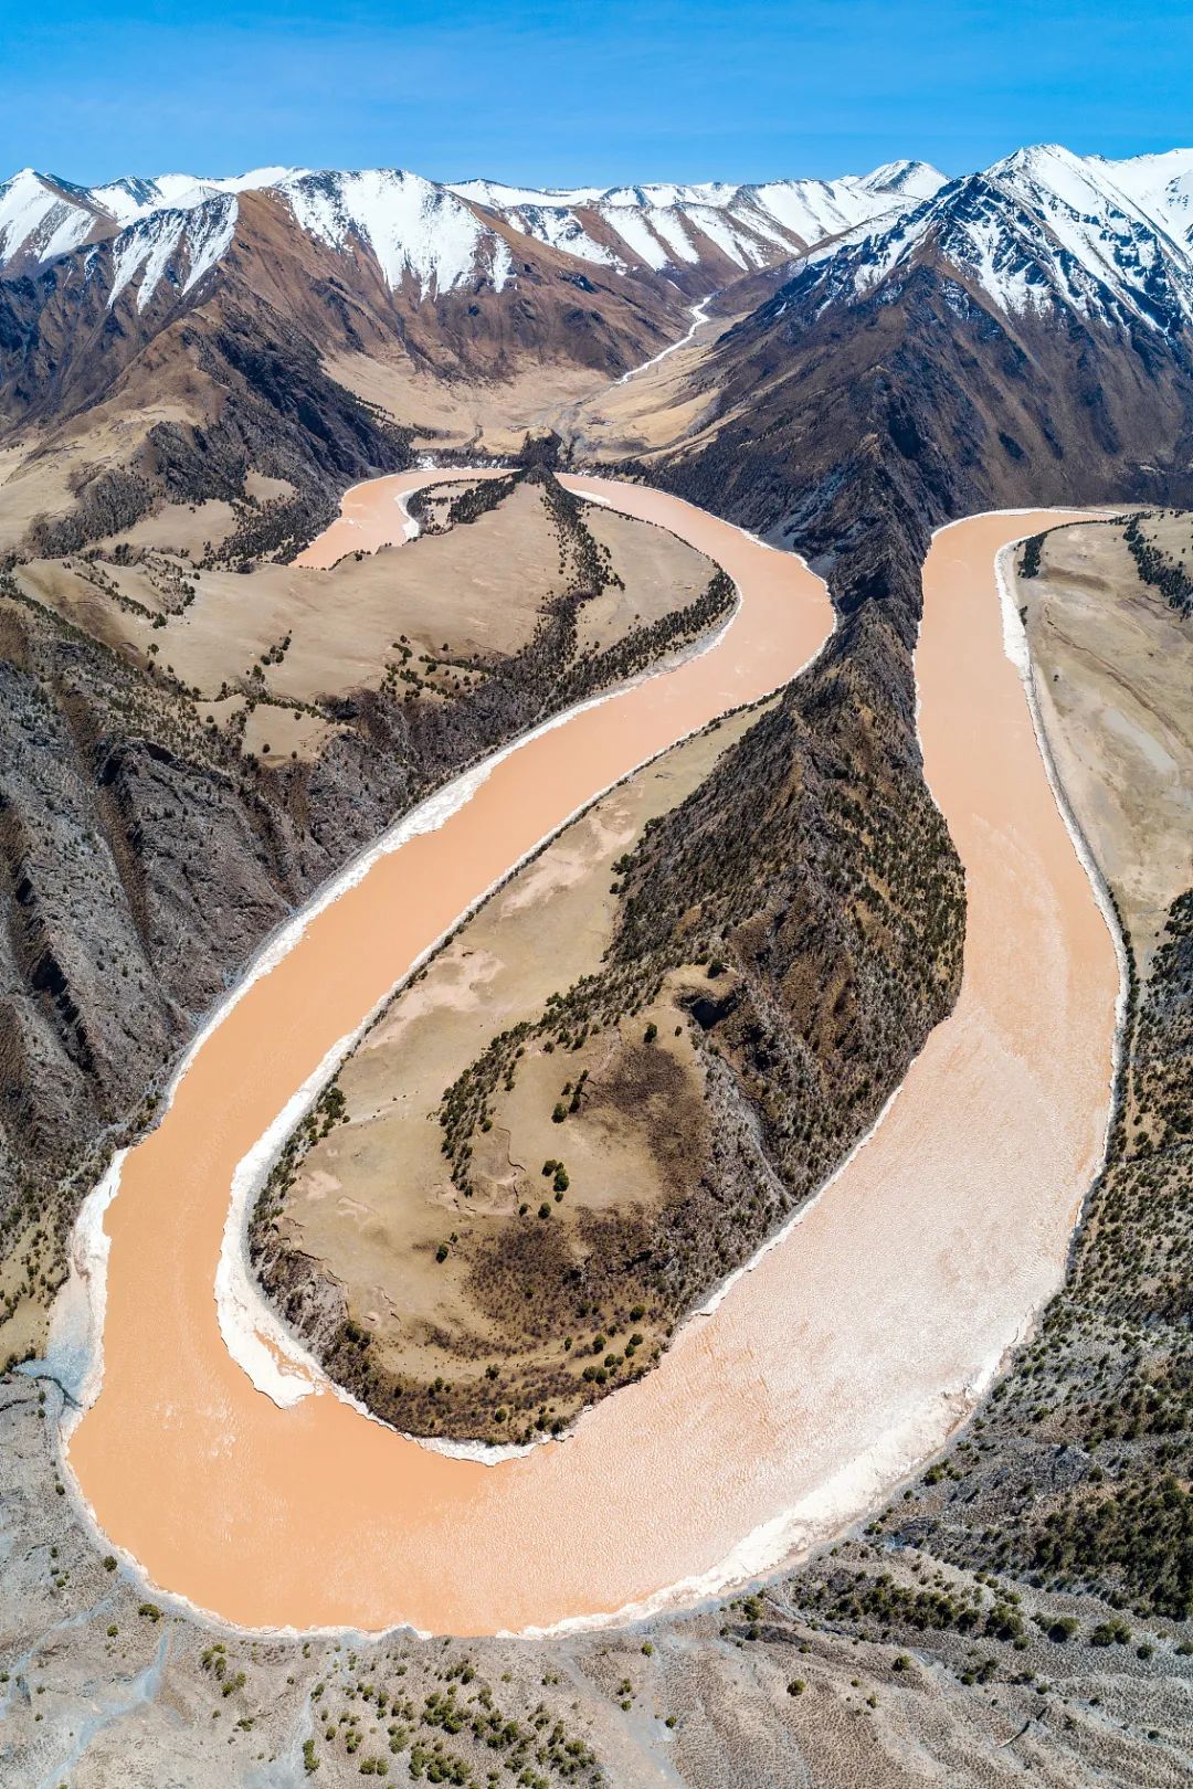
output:
[[43,513],[70,521],[36,544],[68,549],[163,501],[241,499],[250,471],[297,492],[277,544],[309,535],[333,492],[408,463],[404,431],[326,363],[435,437],[444,385],[503,392],[553,370],[601,385],[681,329],[667,281],[605,274],[501,220],[488,240],[517,256],[513,277],[478,265],[440,293],[410,272],[390,286],[370,249],[320,243],[274,193],[243,195],[206,268],[222,216],[188,213],[159,265],[145,245],[132,265],[120,236],[0,279],[0,544],[20,547]]

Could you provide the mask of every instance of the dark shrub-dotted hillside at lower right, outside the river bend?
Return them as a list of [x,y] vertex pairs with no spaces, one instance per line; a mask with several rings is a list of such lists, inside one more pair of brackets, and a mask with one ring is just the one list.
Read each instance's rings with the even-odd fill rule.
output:
[[[1193,1619],[1191,1014],[1193,891],[1173,902],[1146,988],[1132,984],[1121,1100],[1070,1281],[994,1388],[978,1446],[935,1478],[944,1501],[882,1524],[1179,1621]],[[996,1490],[1011,1449],[1018,1469]]]

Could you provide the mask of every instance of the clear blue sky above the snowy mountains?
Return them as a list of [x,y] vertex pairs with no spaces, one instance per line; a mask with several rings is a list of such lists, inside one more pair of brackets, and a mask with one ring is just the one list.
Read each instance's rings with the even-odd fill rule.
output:
[[1189,143],[1191,66],[1189,0],[0,0],[0,177],[957,174]]

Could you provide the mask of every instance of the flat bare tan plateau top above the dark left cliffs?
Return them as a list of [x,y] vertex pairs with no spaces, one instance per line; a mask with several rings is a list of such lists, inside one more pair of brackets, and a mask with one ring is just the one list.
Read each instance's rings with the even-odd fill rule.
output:
[[[349,512],[352,503],[349,492]],[[585,632],[603,646],[630,632],[635,614],[642,623],[655,621],[690,603],[708,585],[708,560],[673,533],[606,517],[596,506],[590,513],[626,585],[624,592],[613,589],[587,605],[592,619],[585,621]],[[533,635],[544,605],[560,594],[556,535],[537,488],[517,487],[479,521],[413,540],[401,551],[376,551],[404,538],[397,504],[379,508],[377,517],[370,531],[333,524],[326,540],[336,538],[334,569],[318,569],[318,553],[302,555],[295,565],[258,565],[249,574],[195,571],[175,560],[177,576],[197,589],[193,603],[179,614],[170,614],[159,580],[143,565],[32,560],[18,567],[16,576],[30,596],[106,644],[138,657],[154,648],[157,662],[199,689],[207,703],[224,685],[256,685],[297,703],[376,689],[386,667],[402,662],[402,635],[413,653],[411,667],[420,674],[427,674],[420,658],[438,658],[444,646],[447,658],[515,653]],[[191,517],[197,519],[199,513]],[[161,517],[152,519],[157,521]],[[136,530],[122,538],[134,535]],[[365,556],[356,558],[358,551]],[[324,564],[327,558],[324,547]],[[140,605],[147,614],[122,606],[102,585],[114,585],[125,605]],[[166,624],[154,626],[163,610]],[[290,644],[281,660],[261,664],[286,637]],[[588,644],[583,635],[581,644]],[[454,676],[458,673],[447,671],[433,680],[451,687]],[[302,728],[292,721],[286,732],[268,717],[252,730],[256,739],[284,746],[286,755],[299,750],[300,757],[311,755],[326,737],[322,723]]]

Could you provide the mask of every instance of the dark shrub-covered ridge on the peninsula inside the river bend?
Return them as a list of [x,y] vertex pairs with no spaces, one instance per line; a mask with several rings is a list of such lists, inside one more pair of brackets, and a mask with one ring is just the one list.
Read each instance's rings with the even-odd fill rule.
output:
[[[512,1218],[465,1238],[469,1299],[510,1365],[499,1385],[483,1376],[481,1352],[474,1372],[444,1370],[451,1395],[433,1394],[426,1379],[383,1361],[360,1324],[340,1326],[322,1347],[326,1365],[399,1428],[495,1440],[501,1408],[504,1433],[513,1426],[512,1438],[526,1440],[649,1370],[683,1311],[873,1122],[918,1039],[948,1009],[962,939],[957,864],[926,794],[907,796],[866,708],[841,701],[837,674],[832,664],[810,671],[696,794],[647,825],[613,866],[617,920],[599,971],[495,1036],[445,1088],[444,1154],[465,1200],[478,1143],[504,1122],[503,1102],[528,1064],[581,1054],[580,1072],[554,1082],[544,1116],[563,1134],[585,1123],[592,1082],[583,1052],[597,1038],[601,1098],[619,1075],[635,1102],[658,1090],[660,1159],[680,1159],[678,1138],[687,1154],[681,1172],[667,1168],[678,1177],[655,1208],[601,1213],[556,1161],[567,1229],[546,1222],[546,1200],[522,1199],[517,1218],[540,1222]],[[744,810],[749,828],[740,827]],[[699,1079],[660,1048],[658,1022],[646,1020],[658,1002],[676,1009]],[[644,1020],[633,1025],[637,1014]],[[279,1165],[261,1225],[279,1209],[297,1159],[286,1154]],[[267,1265],[267,1283],[268,1274]],[[277,1283],[286,1285],[281,1270]],[[633,1345],[601,1349],[596,1360],[556,1354],[549,1344],[583,1331],[587,1310],[622,1331],[628,1310],[649,1317]],[[476,1344],[461,1342],[461,1361],[469,1347]],[[542,1356],[533,1369],[520,1358],[528,1351]]]

